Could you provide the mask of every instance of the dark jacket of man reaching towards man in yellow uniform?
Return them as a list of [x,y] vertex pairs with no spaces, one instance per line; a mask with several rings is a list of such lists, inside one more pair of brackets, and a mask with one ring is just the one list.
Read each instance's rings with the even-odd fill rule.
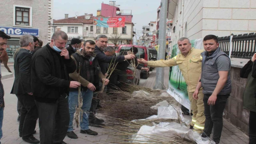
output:
[[121,62],[124,60],[124,56],[106,56],[105,53],[98,48],[98,46],[95,46],[94,54],[96,54],[96,58],[98,59],[98,63],[103,75],[105,75],[108,71],[108,63]]

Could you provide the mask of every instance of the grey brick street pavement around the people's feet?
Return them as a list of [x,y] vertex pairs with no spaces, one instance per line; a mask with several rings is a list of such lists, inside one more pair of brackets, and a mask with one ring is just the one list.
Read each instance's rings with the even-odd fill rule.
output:
[[[10,66],[12,72],[13,66]],[[6,69],[2,66],[2,71]],[[169,68],[165,68],[164,86],[168,87],[168,71]],[[155,82],[156,70],[150,72],[150,76],[145,82],[140,85],[152,88]],[[14,78],[4,79],[2,83],[4,84],[5,90],[5,104],[4,109],[4,120],[3,120],[3,137],[0,140],[2,144],[28,144],[18,136],[18,122],[17,122],[17,98],[15,95],[10,94]],[[75,127],[74,127],[75,128]],[[78,139],[70,139],[66,137],[64,139],[68,144],[94,144],[95,142],[101,143],[108,139],[108,135],[104,134],[106,132],[103,128],[90,127],[99,133],[98,136],[90,136],[86,134],[80,134],[79,128],[75,128],[74,132],[78,135]],[[39,139],[39,128],[38,123],[36,126],[37,133],[34,134],[36,138]],[[238,128],[224,120],[224,127],[222,131],[222,138],[220,144],[248,144],[248,136],[241,132]]]

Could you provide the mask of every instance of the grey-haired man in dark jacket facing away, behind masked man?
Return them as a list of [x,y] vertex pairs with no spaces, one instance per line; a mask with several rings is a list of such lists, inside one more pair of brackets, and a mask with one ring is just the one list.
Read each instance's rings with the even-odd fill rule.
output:
[[24,35],[20,38],[20,51],[14,62],[15,79],[11,94],[16,94],[21,106],[19,133],[22,140],[30,144],[39,144],[34,138],[38,110],[31,90],[31,58],[34,51],[33,36]]

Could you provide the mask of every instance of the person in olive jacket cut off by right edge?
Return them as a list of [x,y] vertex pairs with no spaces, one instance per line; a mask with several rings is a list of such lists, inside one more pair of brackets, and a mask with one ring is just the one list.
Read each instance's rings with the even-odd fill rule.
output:
[[249,116],[249,144],[256,144],[256,53],[252,59],[240,70],[241,78],[248,78],[244,96],[244,108],[250,110]]

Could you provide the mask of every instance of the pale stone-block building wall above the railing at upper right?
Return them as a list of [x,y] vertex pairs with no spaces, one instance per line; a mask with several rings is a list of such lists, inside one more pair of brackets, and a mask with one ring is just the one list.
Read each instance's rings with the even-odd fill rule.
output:
[[181,37],[193,40],[256,31],[255,0],[172,0],[168,9],[173,44]]

